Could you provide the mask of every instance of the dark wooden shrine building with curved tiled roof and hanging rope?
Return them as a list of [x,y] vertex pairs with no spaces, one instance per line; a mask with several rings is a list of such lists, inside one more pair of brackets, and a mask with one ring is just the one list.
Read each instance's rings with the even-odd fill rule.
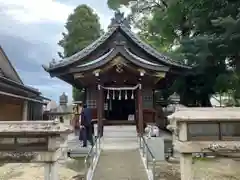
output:
[[140,132],[144,122],[155,119],[154,90],[190,69],[143,42],[121,13],[91,45],[43,67],[52,77],[85,88],[86,104],[100,125],[135,119]]

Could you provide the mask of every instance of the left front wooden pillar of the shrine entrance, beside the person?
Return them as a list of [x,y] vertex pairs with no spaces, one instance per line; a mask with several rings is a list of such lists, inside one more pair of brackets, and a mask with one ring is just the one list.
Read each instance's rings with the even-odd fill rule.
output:
[[97,116],[98,116],[98,135],[101,137],[103,136],[103,89],[100,85],[98,84],[97,87],[97,94],[98,94],[98,99],[97,99]]

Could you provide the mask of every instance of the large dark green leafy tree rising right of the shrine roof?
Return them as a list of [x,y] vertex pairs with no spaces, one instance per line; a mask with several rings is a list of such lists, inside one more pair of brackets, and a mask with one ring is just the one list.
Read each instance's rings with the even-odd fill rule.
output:
[[108,5],[130,8],[143,39],[197,65],[191,77],[179,78],[172,86],[183,104],[209,106],[212,94],[229,90],[234,99],[240,98],[240,1],[108,0]]

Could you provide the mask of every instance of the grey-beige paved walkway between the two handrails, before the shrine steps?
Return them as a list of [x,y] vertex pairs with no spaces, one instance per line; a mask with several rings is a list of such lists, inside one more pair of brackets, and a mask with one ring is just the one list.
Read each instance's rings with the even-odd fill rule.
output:
[[148,180],[138,150],[103,150],[93,180]]

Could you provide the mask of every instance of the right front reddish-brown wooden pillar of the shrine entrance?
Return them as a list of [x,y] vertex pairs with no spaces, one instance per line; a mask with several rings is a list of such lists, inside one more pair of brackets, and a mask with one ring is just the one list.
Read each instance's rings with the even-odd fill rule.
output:
[[143,98],[142,98],[142,85],[140,84],[138,88],[138,131],[139,135],[143,135],[144,126],[143,126]]

